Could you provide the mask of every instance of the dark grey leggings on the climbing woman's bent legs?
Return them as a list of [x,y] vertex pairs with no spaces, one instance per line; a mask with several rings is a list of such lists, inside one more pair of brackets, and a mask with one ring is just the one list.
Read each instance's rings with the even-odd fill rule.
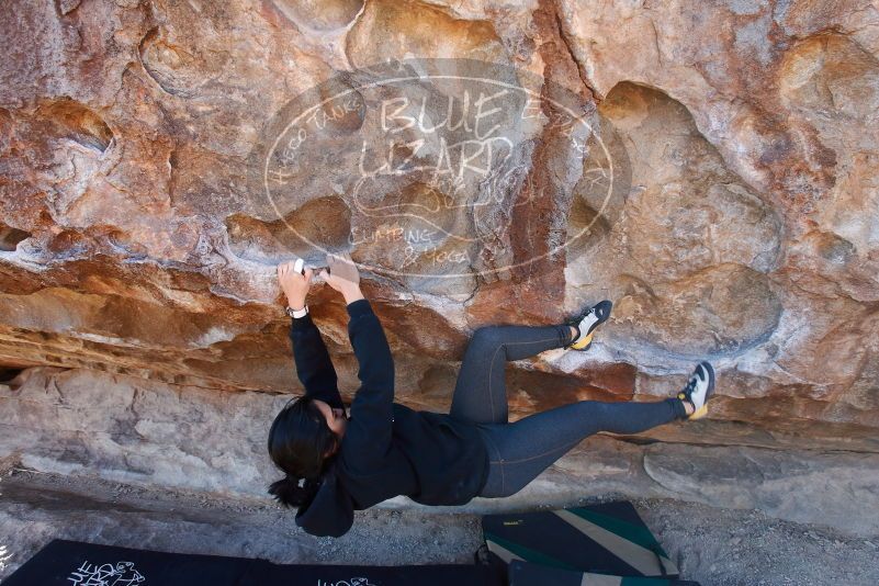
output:
[[450,414],[478,424],[488,449],[488,478],[478,496],[521,491],[550,464],[597,431],[638,433],[687,416],[677,398],[652,403],[581,401],[508,422],[504,367],[571,342],[571,327],[486,326],[467,346]]

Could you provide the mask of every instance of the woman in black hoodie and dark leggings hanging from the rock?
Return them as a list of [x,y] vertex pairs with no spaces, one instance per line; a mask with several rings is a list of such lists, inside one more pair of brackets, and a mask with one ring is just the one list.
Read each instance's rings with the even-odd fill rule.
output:
[[269,454],[285,474],[269,493],[298,508],[296,525],[308,533],[340,537],[351,528],[354,510],[397,495],[425,505],[509,496],[597,431],[638,433],[674,419],[697,419],[708,410],[714,371],[701,362],[675,397],[581,401],[508,422],[505,363],[551,348],[588,350],[596,328],[610,316],[609,301],[561,325],[477,328],[464,353],[450,413],[414,410],[394,402],[394,361],[379,317],[360,290],[354,263],[348,255],[328,255],[327,264],[318,275],[345,298],[348,336],[359,363],[361,384],[350,415],[305,304],[314,269],[304,268],[302,259],[278,267],[305,393],[281,409],[269,430]]

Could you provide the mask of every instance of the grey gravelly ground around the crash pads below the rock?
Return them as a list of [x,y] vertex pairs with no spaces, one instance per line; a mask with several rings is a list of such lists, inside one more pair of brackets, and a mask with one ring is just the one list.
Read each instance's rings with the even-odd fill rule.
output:
[[[612,498],[612,496],[609,496]],[[593,499],[595,500],[595,499]],[[879,584],[879,537],[668,499],[635,500],[683,577],[719,584]],[[52,539],[279,563],[471,563],[474,515],[373,508],[340,539],[302,532],[271,502],[162,492],[10,470],[0,480],[0,579]]]

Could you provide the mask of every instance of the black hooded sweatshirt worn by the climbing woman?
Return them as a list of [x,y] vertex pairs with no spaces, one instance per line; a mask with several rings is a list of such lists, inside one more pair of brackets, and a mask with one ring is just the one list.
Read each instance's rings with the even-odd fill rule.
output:
[[[314,498],[296,512],[297,526],[322,537],[345,534],[354,510],[398,495],[424,505],[463,505],[482,491],[488,472],[474,422],[394,403],[394,361],[379,317],[365,298],[346,308],[360,387],[339,451]],[[292,320],[293,357],[305,394],[343,408],[336,371],[311,315]]]

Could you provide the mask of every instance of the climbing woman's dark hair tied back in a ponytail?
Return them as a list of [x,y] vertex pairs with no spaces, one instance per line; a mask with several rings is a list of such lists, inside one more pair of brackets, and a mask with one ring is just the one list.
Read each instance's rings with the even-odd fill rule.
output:
[[320,486],[320,475],[335,458],[339,438],[309,396],[288,403],[269,429],[269,455],[286,474],[269,486],[269,494],[285,507],[308,505]]

